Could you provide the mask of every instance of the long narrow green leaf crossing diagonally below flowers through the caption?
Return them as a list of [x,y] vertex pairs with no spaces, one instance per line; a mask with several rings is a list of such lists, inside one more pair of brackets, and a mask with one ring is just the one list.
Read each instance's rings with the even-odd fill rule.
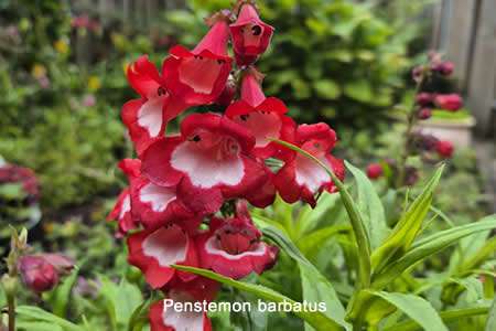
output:
[[215,274],[215,273],[213,273],[211,270],[206,270],[206,269],[200,269],[200,268],[181,266],[181,265],[173,265],[173,267],[176,268],[177,270],[196,274],[196,275],[216,280],[218,282],[231,286],[234,288],[246,291],[248,293],[252,293],[263,300],[268,300],[268,301],[272,301],[272,302],[289,302],[293,306],[292,312],[295,316],[298,316],[299,318],[306,321],[312,327],[314,327],[315,330],[322,330],[322,331],[341,330],[339,324],[337,324],[332,319],[327,318],[322,312],[310,312],[310,311],[304,311],[304,310],[300,310],[300,309],[294,309],[295,305],[298,302],[295,302],[294,300],[281,295],[274,290],[271,290],[270,288],[267,288],[265,286],[234,280],[233,278],[224,277],[222,275]]

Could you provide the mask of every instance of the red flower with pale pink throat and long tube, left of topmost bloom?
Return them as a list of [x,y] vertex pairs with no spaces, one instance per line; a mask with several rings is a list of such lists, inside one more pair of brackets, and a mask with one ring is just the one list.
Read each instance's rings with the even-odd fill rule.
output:
[[212,29],[193,51],[175,45],[163,62],[164,85],[190,105],[213,103],[229,76],[233,61],[227,54],[228,19],[217,13],[212,21]]

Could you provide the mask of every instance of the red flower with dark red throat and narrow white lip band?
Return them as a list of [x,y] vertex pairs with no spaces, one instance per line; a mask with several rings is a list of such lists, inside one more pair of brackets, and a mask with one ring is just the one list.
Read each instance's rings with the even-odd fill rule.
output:
[[228,220],[213,217],[209,231],[198,235],[202,267],[235,279],[252,271],[260,275],[273,266],[279,249],[260,241],[261,233],[249,218],[246,204],[238,204],[236,214]]

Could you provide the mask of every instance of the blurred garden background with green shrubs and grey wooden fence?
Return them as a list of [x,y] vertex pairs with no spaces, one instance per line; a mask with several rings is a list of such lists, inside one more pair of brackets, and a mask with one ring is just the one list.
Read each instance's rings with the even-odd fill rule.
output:
[[[0,156],[30,168],[40,184],[39,194],[28,197],[19,184],[0,178],[0,255],[8,253],[11,223],[28,226],[35,247],[78,261],[65,288],[75,292],[69,296],[75,305],[61,303],[60,291],[43,303],[57,314],[78,316],[89,307],[95,321],[110,316],[118,324],[141,301],[131,285],[126,292],[111,285],[122,275],[131,284],[138,275],[126,264],[116,225],[105,221],[126,185],[116,163],[133,153],[120,121],[122,103],[133,97],[126,68],[140,54],[159,64],[175,43],[194,45],[204,33],[203,18],[226,3],[0,0]],[[266,93],[283,99],[300,122],[332,125],[339,137],[336,153],[362,169],[398,152],[390,142],[403,129],[398,105],[413,97],[411,68],[427,50],[445,53],[456,70],[438,88],[457,89],[466,107],[432,120],[462,128],[471,139],[456,146],[435,204],[455,224],[496,210],[496,20],[490,17],[496,1],[266,0],[259,6],[277,28],[260,62],[269,73]],[[432,167],[419,171],[425,179]],[[387,204],[391,192],[376,184]],[[435,268],[445,261],[432,263]],[[112,308],[114,316],[98,312],[109,309],[99,305],[120,305],[125,297],[129,307]]]

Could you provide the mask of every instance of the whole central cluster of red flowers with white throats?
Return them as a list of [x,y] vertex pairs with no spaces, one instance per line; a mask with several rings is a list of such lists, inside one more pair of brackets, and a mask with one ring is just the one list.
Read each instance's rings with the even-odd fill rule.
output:
[[[160,72],[147,56],[129,66],[139,98],[126,103],[121,115],[138,158],[119,163],[129,186],[109,215],[118,221],[118,235],[128,236],[129,263],[174,301],[213,300],[219,286],[172,265],[235,279],[273,266],[278,248],[261,241],[247,202],[266,207],[279,192],[289,203],[314,206],[322,191],[336,190],[319,164],[274,139],[344,178],[343,161],[331,154],[334,130],[323,122],[298,126],[283,102],[263,94],[255,63],[273,28],[260,20],[252,1],[240,0],[206,22],[209,31],[200,43],[193,50],[173,46]],[[224,114],[188,115],[179,134],[165,134],[186,109],[214,103],[226,107]],[[163,302],[152,306],[150,322],[151,330],[211,328],[206,314],[180,313]]]

